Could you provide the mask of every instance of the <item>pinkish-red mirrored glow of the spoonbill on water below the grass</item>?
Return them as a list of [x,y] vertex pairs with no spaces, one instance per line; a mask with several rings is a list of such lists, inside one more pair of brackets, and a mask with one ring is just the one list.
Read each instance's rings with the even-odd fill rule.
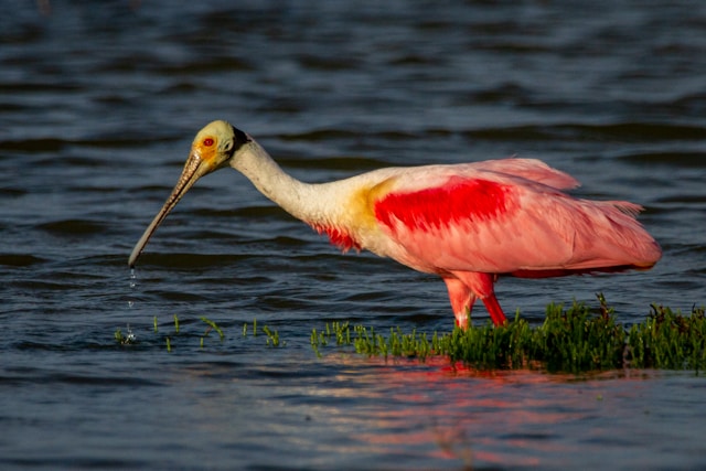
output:
[[373,410],[374,431],[357,438],[399,452],[436,443],[432,456],[467,464],[539,465],[543,454],[579,451],[560,440],[563,430],[606,411],[600,382],[576,387],[575,376],[414,364],[385,370],[361,381],[377,383],[383,397],[394,394],[396,407]]

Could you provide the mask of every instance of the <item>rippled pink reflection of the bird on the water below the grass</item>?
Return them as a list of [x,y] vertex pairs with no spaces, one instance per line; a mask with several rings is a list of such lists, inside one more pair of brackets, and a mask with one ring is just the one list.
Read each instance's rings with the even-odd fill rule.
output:
[[[481,372],[450,365],[446,358],[429,358],[424,364],[347,356],[330,360],[375,366],[357,375],[360,387],[350,389],[359,399],[379,402],[378,407],[366,409],[365,419],[355,418],[360,424],[352,429],[361,429],[356,440],[378,451],[414,450],[458,460],[464,467],[576,463],[576,453],[587,452],[582,441],[606,439],[603,419],[620,414],[623,400],[639,397],[639,381],[650,377],[630,372],[585,376]],[[350,382],[351,377],[341,379]],[[616,397],[621,400],[612,400]]]

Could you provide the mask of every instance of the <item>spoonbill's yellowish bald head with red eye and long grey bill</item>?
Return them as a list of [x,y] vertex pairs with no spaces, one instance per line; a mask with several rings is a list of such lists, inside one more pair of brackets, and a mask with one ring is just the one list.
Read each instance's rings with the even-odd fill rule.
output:
[[179,200],[186,194],[189,189],[196,183],[196,180],[227,167],[233,156],[235,156],[243,146],[252,141],[253,139],[245,132],[221,120],[210,122],[196,133],[191,144],[189,159],[186,159],[176,185],[160,212],[157,213],[154,220],[152,220],[145,231],[145,234],[142,234],[142,237],[140,237],[140,240],[132,249],[132,254],[130,254],[128,261],[130,267],[135,266],[147,242],[154,231],[157,231],[160,223],[167,217],[176,203],[179,203]]

